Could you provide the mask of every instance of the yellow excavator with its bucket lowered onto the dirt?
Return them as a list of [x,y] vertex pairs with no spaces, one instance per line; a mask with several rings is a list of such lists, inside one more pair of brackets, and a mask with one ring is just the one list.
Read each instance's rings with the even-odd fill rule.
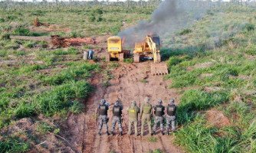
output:
[[133,60],[139,63],[143,59],[154,60],[151,64],[151,73],[153,75],[168,74],[166,63],[161,62],[160,55],[160,37],[157,34],[147,35],[145,40],[140,43],[135,43],[133,50]]

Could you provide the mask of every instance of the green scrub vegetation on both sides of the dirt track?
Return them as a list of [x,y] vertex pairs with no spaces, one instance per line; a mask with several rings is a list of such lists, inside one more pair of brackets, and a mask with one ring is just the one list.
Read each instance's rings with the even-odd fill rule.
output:
[[[49,4],[0,2],[0,152],[26,152],[40,143],[48,148],[42,135],[58,135],[68,115],[84,111],[94,74],[103,73],[103,86],[110,86],[110,72],[119,67],[110,63],[102,70],[101,63],[82,60],[88,46],[53,49],[45,41],[11,40],[10,35],[114,35],[149,19],[159,1]],[[185,151],[256,151],[255,11],[245,5],[212,8],[195,24],[163,38],[162,59],[169,67],[165,79],[181,95],[179,129],[173,135]],[[54,27],[34,31],[36,17]],[[227,124],[215,125],[208,119],[211,111],[216,120],[227,118]],[[27,129],[19,126],[24,121]]]

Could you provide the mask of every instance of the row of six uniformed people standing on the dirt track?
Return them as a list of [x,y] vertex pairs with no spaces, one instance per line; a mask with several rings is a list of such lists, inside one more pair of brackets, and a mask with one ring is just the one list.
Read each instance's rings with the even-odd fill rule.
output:
[[[97,119],[98,119],[98,134],[101,135],[101,129],[103,124],[106,126],[107,135],[113,135],[115,126],[118,124],[119,128],[119,135],[123,135],[123,127],[122,127],[122,114],[123,114],[123,105],[120,100],[117,100],[114,103],[112,112],[112,127],[110,129],[110,133],[108,130],[108,110],[110,109],[110,104],[106,102],[105,99],[100,100],[100,105],[97,107]],[[166,114],[166,115],[165,115]],[[170,99],[169,104],[165,107],[162,105],[162,100],[157,99],[156,106],[152,106],[150,103],[149,97],[146,97],[144,103],[139,108],[137,106],[136,101],[132,101],[129,108],[127,108],[127,115],[129,119],[129,127],[128,127],[128,134],[132,135],[132,127],[134,126],[135,135],[138,136],[138,122],[139,119],[141,120],[141,135],[144,135],[144,126],[148,125],[150,135],[156,135],[156,128],[157,125],[160,125],[160,129],[162,135],[164,135],[164,127],[163,122],[166,119],[166,134],[169,135],[169,132],[174,132],[176,130],[176,104],[174,99]],[[153,120],[153,130],[151,126],[151,122]],[[172,129],[170,131],[170,126]]]

